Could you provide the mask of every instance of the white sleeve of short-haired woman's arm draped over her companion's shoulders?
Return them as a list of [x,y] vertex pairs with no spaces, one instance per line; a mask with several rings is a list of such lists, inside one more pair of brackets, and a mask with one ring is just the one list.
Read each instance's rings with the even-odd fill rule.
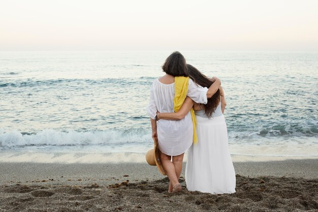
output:
[[200,104],[206,104],[208,102],[206,93],[208,92],[207,87],[202,87],[195,83],[192,79],[189,79],[187,95],[193,101]]

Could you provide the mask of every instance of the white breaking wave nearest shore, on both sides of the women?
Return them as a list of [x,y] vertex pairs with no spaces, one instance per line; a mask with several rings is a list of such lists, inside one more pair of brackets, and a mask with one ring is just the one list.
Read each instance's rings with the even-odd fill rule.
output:
[[[316,136],[307,136],[294,132],[289,135],[276,135],[272,132],[229,131],[230,144],[302,143],[304,140],[312,145],[318,144]],[[312,135],[312,134],[310,134]],[[149,144],[152,142],[150,129],[126,130],[88,130],[88,131],[59,131],[46,129],[39,132],[20,132],[18,130],[5,132],[0,129],[0,149],[18,149],[25,146],[41,148],[41,146],[118,146],[126,144]]]

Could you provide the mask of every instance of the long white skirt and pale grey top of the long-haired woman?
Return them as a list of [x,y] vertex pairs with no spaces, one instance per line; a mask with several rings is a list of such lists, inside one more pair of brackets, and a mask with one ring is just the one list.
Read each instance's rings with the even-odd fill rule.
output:
[[211,194],[234,193],[236,178],[228,147],[228,130],[221,104],[209,119],[195,111],[198,143],[190,146],[185,167],[186,188]]

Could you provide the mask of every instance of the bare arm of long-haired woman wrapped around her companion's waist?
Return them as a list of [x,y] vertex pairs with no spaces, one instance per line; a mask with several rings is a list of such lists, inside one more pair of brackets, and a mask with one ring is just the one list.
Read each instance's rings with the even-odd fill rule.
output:
[[181,120],[184,118],[186,114],[190,111],[190,109],[193,107],[194,101],[187,97],[185,98],[180,110],[175,113],[160,113],[157,112],[157,118],[158,119],[166,119],[166,120]]

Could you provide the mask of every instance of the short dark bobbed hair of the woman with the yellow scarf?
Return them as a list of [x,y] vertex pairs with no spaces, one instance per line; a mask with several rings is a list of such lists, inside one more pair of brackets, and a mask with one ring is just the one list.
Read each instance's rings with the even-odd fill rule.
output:
[[185,58],[178,51],[173,52],[167,57],[166,62],[164,63],[162,68],[163,71],[166,72],[166,74],[172,75],[174,77],[189,76]]

